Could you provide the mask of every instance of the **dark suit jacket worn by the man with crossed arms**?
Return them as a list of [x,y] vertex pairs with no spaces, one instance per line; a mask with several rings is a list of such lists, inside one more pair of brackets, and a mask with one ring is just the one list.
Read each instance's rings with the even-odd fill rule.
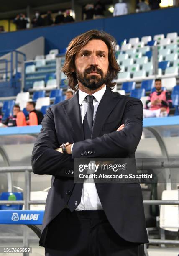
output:
[[[84,140],[78,92],[47,110],[31,158],[35,174],[52,175],[40,246],[46,246],[48,224],[67,205],[68,192],[73,191],[74,158],[135,158],[142,120],[140,100],[118,95],[108,87],[97,108],[91,139]],[[125,128],[116,131],[121,124]],[[74,143],[72,155],[54,150],[66,141]],[[114,230],[127,241],[148,243],[140,184],[95,184]]]

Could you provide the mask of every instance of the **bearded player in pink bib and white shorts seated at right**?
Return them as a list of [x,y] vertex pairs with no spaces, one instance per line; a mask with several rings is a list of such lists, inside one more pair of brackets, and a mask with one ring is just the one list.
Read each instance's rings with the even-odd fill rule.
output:
[[161,79],[155,80],[155,88],[146,101],[147,109],[143,109],[144,118],[167,116],[172,106],[170,93],[161,88]]

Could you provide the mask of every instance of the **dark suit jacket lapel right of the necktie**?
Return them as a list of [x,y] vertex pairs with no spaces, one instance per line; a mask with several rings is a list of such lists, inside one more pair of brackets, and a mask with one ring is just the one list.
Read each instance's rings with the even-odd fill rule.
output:
[[118,103],[120,97],[113,93],[108,87],[106,87],[105,93],[98,105],[95,120],[92,127],[92,138],[99,136],[102,125],[112,112],[115,105]]

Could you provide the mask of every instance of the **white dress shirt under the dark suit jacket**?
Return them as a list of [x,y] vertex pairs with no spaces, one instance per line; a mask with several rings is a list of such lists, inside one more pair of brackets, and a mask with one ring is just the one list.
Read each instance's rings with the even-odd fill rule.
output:
[[[93,106],[94,106],[94,113],[93,113],[93,120],[96,115],[96,111],[98,108],[98,105],[100,104],[100,101],[102,99],[102,96],[104,95],[106,90],[106,85],[99,91],[95,92],[92,94],[95,98],[93,100]],[[82,92],[81,90],[79,91],[79,104],[80,104],[80,110],[81,110],[81,115],[82,115],[82,122],[84,119],[84,116],[87,112],[88,108],[88,103],[85,97],[88,95],[86,92]],[[72,147],[73,148],[73,144]],[[82,211],[82,210],[102,210],[102,205],[100,202],[100,198],[97,194],[97,189],[94,183],[94,179],[86,179],[83,183],[83,189],[82,189],[82,197],[81,197],[81,202],[77,206],[75,210],[77,211]]]

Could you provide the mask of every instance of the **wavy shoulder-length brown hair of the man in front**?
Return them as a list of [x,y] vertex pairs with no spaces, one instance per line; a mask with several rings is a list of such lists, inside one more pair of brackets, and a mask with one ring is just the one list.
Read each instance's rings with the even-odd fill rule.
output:
[[77,84],[77,76],[75,70],[75,56],[78,52],[90,41],[93,39],[102,40],[105,42],[108,48],[108,76],[106,85],[111,89],[115,86],[115,82],[112,82],[113,79],[117,76],[120,71],[120,67],[115,59],[115,49],[116,49],[116,41],[113,36],[105,33],[104,31],[99,30],[90,30],[86,33],[83,33],[77,37],[75,37],[70,43],[66,51],[64,66],[62,67],[62,72],[66,74],[67,80],[69,82],[69,88],[76,91],[78,89]]

